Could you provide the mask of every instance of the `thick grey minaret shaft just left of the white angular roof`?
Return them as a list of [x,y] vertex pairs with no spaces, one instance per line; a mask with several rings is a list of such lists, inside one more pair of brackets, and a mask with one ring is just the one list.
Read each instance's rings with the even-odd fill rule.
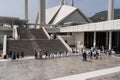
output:
[[45,26],[46,25],[46,13],[45,13],[45,0],[39,0],[39,13],[40,13],[40,27]]

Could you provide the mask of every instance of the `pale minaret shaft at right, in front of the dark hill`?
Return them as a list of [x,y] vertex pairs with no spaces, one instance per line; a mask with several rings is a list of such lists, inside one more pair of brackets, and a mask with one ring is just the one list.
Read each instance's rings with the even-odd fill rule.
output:
[[114,0],[108,0],[108,20],[114,19]]

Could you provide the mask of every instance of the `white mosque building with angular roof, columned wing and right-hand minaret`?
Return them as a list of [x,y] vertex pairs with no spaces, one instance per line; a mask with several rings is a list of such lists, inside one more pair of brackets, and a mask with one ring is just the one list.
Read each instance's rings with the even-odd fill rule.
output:
[[[70,46],[75,46],[77,49],[85,46],[120,50],[120,20],[114,20],[113,17],[114,0],[108,0],[108,4],[108,21],[92,23],[80,9],[74,7],[73,0],[71,5],[66,5],[65,0],[61,0],[59,6],[45,11],[44,23],[52,25],[47,26],[46,30],[48,33],[61,35]],[[41,23],[39,19],[36,18],[36,24]]]

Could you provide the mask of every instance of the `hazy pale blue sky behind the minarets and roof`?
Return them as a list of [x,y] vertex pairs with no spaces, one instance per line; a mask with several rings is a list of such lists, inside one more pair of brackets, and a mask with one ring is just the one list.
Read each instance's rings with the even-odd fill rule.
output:
[[[24,0],[0,0],[0,16],[13,16],[24,19]],[[29,22],[35,22],[38,11],[38,0],[29,1]],[[71,0],[66,0],[70,5]],[[74,0],[75,7],[79,8],[86,16],[107,10],[108,0]],[[46,8],[60,4],[60,0],[46,0]],[[120,0],[114,0],[114,8],[120,8]]]

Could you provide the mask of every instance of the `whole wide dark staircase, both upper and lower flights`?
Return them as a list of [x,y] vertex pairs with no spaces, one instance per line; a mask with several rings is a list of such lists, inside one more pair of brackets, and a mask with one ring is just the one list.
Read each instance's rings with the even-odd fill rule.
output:
[[[7,51],[24,51],[25,56],[33,56],[35,49],[43,52],[61,52],[67,48],[59,39],[48,39],[42,29],[18,28],[19,40],[8,40]],[[31,35],[34,39],[31,39]]]

